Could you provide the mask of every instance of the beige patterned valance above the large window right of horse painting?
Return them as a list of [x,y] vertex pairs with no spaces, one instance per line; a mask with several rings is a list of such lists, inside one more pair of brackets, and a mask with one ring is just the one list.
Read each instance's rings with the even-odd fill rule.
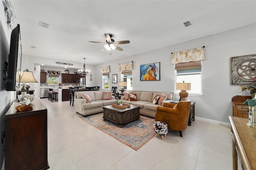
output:
[[172,64],[188,63],[190,61],[200,61],[206,59],[204,56],[203,47],[188,49],[186,51],[180,51],[172,53]]

